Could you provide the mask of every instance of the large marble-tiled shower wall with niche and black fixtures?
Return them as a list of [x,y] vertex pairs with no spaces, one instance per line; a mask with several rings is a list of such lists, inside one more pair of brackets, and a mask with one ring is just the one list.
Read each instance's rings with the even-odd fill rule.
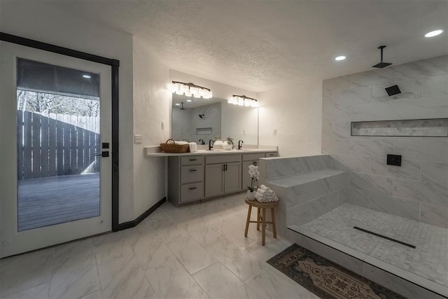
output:
[[[397,84],[400,95],[384,88]],[[349,172],[346,201],[448,228],[447,137],[351,137],[352,121],[448,117],[448,55],[323,81],[323,153]],[[402,166],[386,165],[388,153]]]

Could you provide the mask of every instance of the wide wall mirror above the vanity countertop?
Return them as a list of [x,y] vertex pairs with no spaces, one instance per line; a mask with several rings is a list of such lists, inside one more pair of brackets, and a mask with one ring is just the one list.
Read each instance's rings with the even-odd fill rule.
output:
[[[190,102],[188,102],[190,100]],[[258,108],[228,104],[226,99],[197,99],[173,94],[172,138],[208,144],[227,137],[258,144]]]

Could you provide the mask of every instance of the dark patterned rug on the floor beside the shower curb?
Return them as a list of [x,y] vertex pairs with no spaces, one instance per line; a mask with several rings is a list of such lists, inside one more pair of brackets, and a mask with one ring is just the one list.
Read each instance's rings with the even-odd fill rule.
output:
[[405,298],[297,244],[267,263],[321,298]]

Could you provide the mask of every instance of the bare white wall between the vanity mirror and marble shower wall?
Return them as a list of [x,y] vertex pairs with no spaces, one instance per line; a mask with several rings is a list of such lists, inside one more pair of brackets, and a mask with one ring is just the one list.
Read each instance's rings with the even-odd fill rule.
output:
[[322,81],[260,92],[258,99],[260,144],[279,146],[282,157],[321,153]]

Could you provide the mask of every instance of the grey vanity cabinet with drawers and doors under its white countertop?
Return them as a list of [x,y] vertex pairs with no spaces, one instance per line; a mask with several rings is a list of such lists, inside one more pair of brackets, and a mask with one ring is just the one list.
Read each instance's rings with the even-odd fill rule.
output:
[[260,158],[275,157],[277,153],[274,149],[251,149],[167,155],[167,199],[178,207],[246,190],[251,184],[248,165],[258,165]]

